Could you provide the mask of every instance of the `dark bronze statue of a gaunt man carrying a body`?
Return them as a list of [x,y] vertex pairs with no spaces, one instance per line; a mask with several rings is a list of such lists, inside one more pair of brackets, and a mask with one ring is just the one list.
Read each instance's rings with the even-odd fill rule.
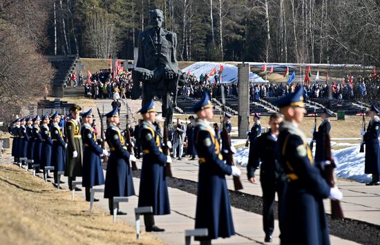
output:
[[137,64],[132,71],[132,99],[138,99],[142,92],[142,105],[145,105],[154,96],[161,96],[162,116],[170,125],[177,99],[178,79],[182,75],[176,57],[177,36],[162,28],[164,15],[161,10],[151,10],[150,15],[153,27],[140,32],[138,39]]

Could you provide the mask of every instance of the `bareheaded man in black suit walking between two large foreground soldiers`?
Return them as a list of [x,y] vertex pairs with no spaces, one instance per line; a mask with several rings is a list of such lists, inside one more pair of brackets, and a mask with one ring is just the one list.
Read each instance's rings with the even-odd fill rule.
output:
[[[263,226],[265,242],[272,242],[274,231],[274,196],[278,195],[278,217],[280,217],[280,206],[284,188],[283,171],[276,158],[276,141],[278,137],[278,126],[283,121],[281,114],[274,112],[269,117],[270,130],[260,135],[254,141],[254,151],[249,157],[247,165],[248,181],[256,183],[255,170],[260,166],[260,182],[263,190]],[[280,228],[281,228],[281,220]]]

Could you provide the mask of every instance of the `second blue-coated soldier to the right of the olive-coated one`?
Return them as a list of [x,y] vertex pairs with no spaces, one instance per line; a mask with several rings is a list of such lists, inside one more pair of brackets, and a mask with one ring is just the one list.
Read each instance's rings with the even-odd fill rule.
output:
[[[124,137],[119,124],[118,108],[115,106],[107,117],[108,128],[106,130],[106,141],[111,150],[108,158],[106,182],[104,186],[104,198],[108,198],[110,214],[113,215],[113,197],[129,197],[135,195],[133,187],[133,175],[130,161],[136,161],[133,155],[126,149]],[[117,214],[125,215],[117,207]]]

